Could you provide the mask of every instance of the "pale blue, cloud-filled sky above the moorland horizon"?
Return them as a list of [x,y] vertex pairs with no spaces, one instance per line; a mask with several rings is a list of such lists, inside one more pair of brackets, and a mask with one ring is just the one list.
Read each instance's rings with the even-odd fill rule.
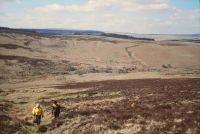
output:
[[0,26],[200,33],[200,0],[0,0]]

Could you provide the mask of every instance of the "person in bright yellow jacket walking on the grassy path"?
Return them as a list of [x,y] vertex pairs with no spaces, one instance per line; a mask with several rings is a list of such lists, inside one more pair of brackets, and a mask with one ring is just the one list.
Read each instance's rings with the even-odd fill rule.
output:
[[32,110],[32,114],[34,116],[34,123],[40,125],[41,118],[44,117],[43,109],[41,108],[40,104],[36,104],[36,106]]

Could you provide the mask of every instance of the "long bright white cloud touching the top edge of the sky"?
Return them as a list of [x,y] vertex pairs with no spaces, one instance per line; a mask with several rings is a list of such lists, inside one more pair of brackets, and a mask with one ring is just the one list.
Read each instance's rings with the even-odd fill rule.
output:
[[157,11],[170,9],[168,0],[89,0],[84,5],[50,4],[37,7],[37,12],[90,12],[118,9],[123,11]]

